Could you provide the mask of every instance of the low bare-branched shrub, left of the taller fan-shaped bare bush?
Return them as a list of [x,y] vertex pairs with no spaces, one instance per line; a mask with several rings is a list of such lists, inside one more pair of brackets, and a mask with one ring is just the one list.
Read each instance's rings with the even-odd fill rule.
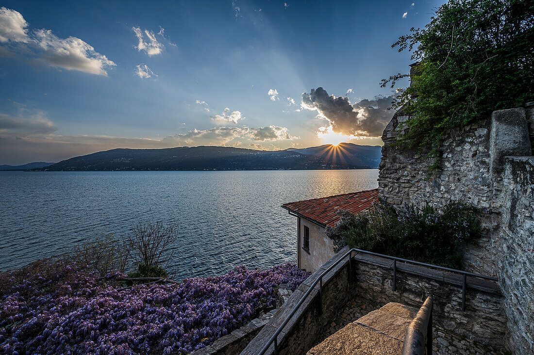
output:
[[90,271],[101,276],[127,269],[129,262],[128,244],[113,234],[102,234],[95,239],[74,246],[66,258],[78,265],[88,265]]

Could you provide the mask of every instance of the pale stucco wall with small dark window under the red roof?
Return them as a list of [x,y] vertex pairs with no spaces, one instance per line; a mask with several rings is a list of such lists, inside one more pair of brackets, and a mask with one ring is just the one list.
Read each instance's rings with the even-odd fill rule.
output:
[[[309,272],[315,272],[334,256],[332,239],[326,236],[325,228],[300,218],[299,231],[299,267]],[[310,228],[310,253],[302,249],[304,245],[304,226]]]

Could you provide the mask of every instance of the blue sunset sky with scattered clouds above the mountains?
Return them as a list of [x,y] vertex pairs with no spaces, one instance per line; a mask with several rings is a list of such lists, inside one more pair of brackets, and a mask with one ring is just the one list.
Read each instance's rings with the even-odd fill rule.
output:
[[[382,145],[436,1],[4,1],[0,164],[113,148]],[[398,83],[407,85],[407,80]]]

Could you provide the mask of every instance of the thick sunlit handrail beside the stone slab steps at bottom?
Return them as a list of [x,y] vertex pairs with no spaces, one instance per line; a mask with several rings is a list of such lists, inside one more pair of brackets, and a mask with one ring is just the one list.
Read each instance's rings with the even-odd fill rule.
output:
[[[431,296],[415,315],[404,337],[402,355],[432,355],[432,311],[434,301]],[[425,346],[426,345],[426,346]]]

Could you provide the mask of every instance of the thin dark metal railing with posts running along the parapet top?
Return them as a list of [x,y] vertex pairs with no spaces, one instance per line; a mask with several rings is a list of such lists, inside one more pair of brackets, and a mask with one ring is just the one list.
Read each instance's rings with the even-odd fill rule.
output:
[[[317,283],[319,283],[319,303],[318,303],[318,307],[319,307],[319,312],[322,311],[322,305],[323,305],[322,294],[323,294],[323,277],[324,277],[324,275],[326,275],[330,270],[332,270],[334,268],[334,266],[336,266],[337,264],[341,263],[341,261],[343,261],[343,259],[345,257],[347,257],[347,255],[351,255],[353,252],[356,252],[357,254],[362,253],[362,254],[378,256],[378,257],[382,257],[382,258],[386,258],[386,259],[390,259],[390,260],[394,261],[394,263],[393,263],[393,272],[394,272],[394,274],[393,274],[393,280],[394,280],[393,290],[394,291],[396,291],[396,289],[397,289],[397,286],[396,286],[397,261],[403,262],[403,263],[410,263],[410,264],[414,264],[414,265],[426,266],[426,267],[430,267],[432,269],[449,271],[449,272],[453,272],[453,273],[457,273],[457,274],[463,275],[464,278],[462,280],[462,311],[465,311],[467,277],[468,276],[475,277],[475,278],[480,278],[480,279],[498,281],[497,278],[486,276],[486,275],[475,274],[475,273],[472,273],[472,272],[467,272],[467,271],[462,271],[462,270],[450,269],[449,267],[426,264],[426,263],[421,263],[421,262],[417,262],[417,261],[413,261],[413,260],[409,260],[409,259],[398,258],[396,256],[373,253],[372,251],[353,248],[353,249],[350,249],[349,251],[347,251],[347,253],[345,253],[342,257],[337,259],[337,261],[335,263],[333,263],[331,266],[329,266],[328,269],[326,269],[324,272],[322,272],[319,275],[319,277],[315,281],[313,281],[313,283],[311,284],[311,286],[308,289],[308,291],[304,294],[304,296],[302,296],[302,298],[300,299],[299,303],[297,303],[295,305],[295,307],[293,307],[293,310],[289,313],[289,315],[286,317],[284,322],[282,322],[282,324],[278,327],[278,329],[276,329],[276,332],[274,332],[274,334],[271,336],[269,341],[265,344],[265,346],[263,346],[262,350],[258,353],[258,355],[264,355],[265,352],[269,349],[269,346],[271,346],[271,344],[273,344],[273,343],[274,343],[274,355],[278,355],[278,335],[281,333],[282,329],[284,329],[284,327],[288,324],[289,320],[293,317],[293,315],[295,315],[296,311],[299,310],[299,307],[304,303],[305,299],[311,294],[311,291],[317,286]],[[349,272],[348,272],[349,280],[350,280],[350,277],[351,277],[351,271],[352,271],[352,256],[349,257]]]

